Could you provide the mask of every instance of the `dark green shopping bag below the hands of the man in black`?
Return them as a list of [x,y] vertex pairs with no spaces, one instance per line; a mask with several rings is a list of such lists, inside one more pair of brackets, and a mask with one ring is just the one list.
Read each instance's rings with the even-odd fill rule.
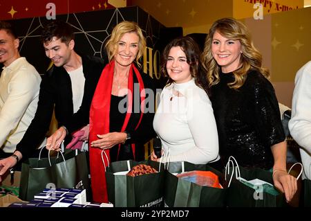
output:
[[80,188],[89,191],[88,165],[85,152],[66,150],[62,155],[38,160],[30,158],[21,165],[19,197],[30,201],[44,188]]

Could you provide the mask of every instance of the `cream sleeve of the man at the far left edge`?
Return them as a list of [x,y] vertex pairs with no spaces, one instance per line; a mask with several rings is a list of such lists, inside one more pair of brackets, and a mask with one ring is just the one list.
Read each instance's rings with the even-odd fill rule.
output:
[[21,70],[8,83],[10,94],[0,111],[0,146],[12,130],[15,130],[30,102],[39,91],[35,75]]

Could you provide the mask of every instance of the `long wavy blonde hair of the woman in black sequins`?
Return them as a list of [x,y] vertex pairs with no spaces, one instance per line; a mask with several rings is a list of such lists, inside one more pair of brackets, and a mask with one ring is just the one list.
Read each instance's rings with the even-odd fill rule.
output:
[[228,39],[238,40],[241,43],[241,68],[233,71],[234,82],[229,83],[228,86],[233,89],[242,87],[249,70],[257,70],[265,76],[270,77],[267,69],[261,67],[262,56],[261,53],[255,48],[252,37],[247,27],[241,22],[233,18],[219,19],[209,29],[209,35],[205,39],[204,51],[202,53],[202,64],[207,70],[207,80],[209,87],[217,85],[219,82],[220,67],[211,53],[211,44],[213,41],[214,33],[220,33]]

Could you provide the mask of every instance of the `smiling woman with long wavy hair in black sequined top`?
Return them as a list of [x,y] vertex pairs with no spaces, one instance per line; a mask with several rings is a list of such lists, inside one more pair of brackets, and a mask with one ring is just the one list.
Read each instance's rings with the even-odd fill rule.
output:
[[270,169],[274,186],[290,201],[296,179],[286,171],[286,142],[278,101],[247,27],[215,21],[202,53],[218,129],[220,156],[241,166]]

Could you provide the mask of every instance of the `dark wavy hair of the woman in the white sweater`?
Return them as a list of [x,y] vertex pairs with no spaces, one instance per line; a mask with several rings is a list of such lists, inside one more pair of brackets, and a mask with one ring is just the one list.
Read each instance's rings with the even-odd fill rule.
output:
[[[178,37],[173,39],[167,46],[165,46],[164,51],[162,53],[161,60],[161,68],[160,72],[163,76],[169,78],[169,74],[167,73],[167,59],[169,58],[169,51],[172,47],[180,46],[182,51],[184,51],[187,63],[190,65],[190,73],[194,78],[194,82],[196,85],[206,91],[209,94],[209,87],[206,78],[206,71],[202,67],[202,63],[200,61],[200,48],[198,44],[191,37]],[[167,85],[171,85],[173,80],[169,78],[167,81]]]

